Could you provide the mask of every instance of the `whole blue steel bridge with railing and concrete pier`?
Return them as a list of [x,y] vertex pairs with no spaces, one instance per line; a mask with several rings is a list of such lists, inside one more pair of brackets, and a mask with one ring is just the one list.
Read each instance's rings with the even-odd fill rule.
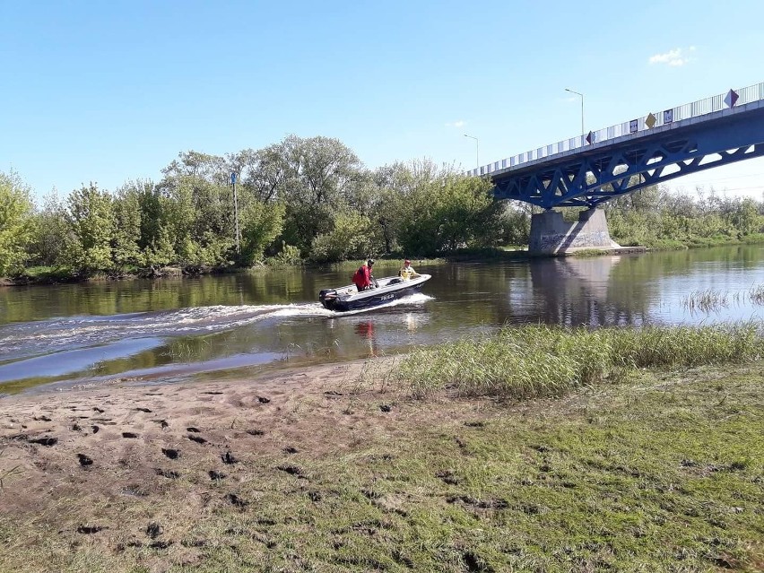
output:
[[[618,195],[761,156],[764,82],[651,112],[494,161],[467,174],[490,177],[498,199],[525,201],[546,210],[593,210]],[[612,242],[601,211],[582,213],[583,219],[575,229],[561,226],[559,213],[542,215],[545,217],[534,215],[529,250],[560,254],[578,247],[605,247]],[[542,219],[547,239],[543,244],[534,244],[534,223],[538,228]],[[595,241],[586,239],[587,232],[592,231],[586,229],[592,227],[590,220],[599,236]],[[551,235],[558,237],[551,239]]]

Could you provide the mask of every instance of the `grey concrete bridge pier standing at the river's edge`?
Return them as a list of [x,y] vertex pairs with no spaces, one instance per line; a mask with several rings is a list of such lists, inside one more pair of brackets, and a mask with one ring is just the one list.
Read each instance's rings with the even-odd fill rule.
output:
[[621,250],[610,238],[602,209],[592,208],[578,214],[578,221],[566,222],[562,213],[546,211],[531,217],[528,253],[564,256],[583,249]]

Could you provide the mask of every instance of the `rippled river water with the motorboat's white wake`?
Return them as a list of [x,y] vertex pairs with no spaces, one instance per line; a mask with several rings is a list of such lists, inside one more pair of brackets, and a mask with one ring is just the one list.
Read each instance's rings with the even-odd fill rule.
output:
[[[375,266],[378,276],[397,265]],[[764,246],[628,256],[415,265],[421,294],[352,315],[317,292],[352,271],[0,289],[0,394],[135,378],[241,377],[491,332],[505,324],[642,326],[764,317]],[[692,293],[726,305],[701,312]]]

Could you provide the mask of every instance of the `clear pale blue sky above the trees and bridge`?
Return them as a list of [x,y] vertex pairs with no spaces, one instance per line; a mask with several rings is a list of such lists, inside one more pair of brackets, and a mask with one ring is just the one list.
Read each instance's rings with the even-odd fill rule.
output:
[[[325,4],[325,5],[321,5]],[[337,137],[463,169],[764,82],[764,3],[0,0],[0,170],[39,197]],[[764,162],[674,186],[761,198]]]

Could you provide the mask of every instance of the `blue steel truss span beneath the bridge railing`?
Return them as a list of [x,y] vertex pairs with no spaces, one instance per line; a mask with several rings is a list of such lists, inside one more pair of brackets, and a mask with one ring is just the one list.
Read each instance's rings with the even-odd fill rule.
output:
[[[761,104],[761,105],[760,105]],[[498,199],[595,207],[690,173],[764,156],[764,102],[491,173]]]

